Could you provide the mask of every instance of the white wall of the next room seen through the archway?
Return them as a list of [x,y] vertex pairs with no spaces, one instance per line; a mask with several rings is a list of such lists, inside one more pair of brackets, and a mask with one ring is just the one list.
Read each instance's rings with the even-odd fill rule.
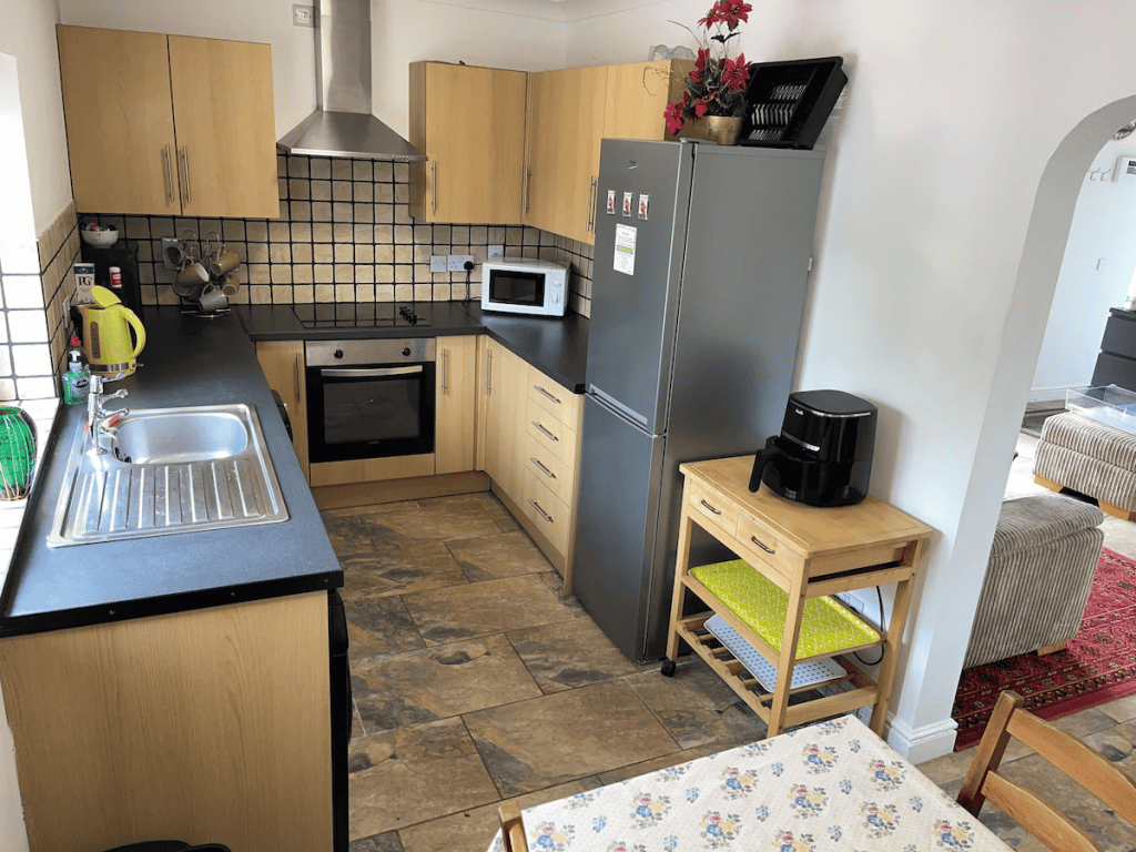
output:
[[[1067,389],[1092,382],[1109,308],[1124,304],[1136,272],[1136,178],[1112,179],[1122,156],[1136,156],[1136,137],[1110,141],[1085,175],[1034,371],[1033,399],[1063,400]],[[1102,258],[1106,264],[1097,269]]]

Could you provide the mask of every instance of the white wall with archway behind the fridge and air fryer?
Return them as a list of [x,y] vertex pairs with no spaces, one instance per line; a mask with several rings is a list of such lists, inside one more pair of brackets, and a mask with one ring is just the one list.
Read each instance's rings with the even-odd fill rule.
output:
[[[879,404],[871,491],[938,531],[892,703],[892,741],[917,759],[953,741],[958,674],[1055,283],[1016,284],[1035,193],[1066,135],[1136,92],[1122,59],[1136,8],[1091,6],[775,0],[754,5],[743,31],[751,61],[836,53],[849,68],[796,386]],[[668,20],[693,25],[707,3],[571,7],[569,65],[674,44]],[[1094,132],[1095,148],[1072,157],[1078,186],[1111,133]],[[1063,248],[1064,234],[1049,237]]]

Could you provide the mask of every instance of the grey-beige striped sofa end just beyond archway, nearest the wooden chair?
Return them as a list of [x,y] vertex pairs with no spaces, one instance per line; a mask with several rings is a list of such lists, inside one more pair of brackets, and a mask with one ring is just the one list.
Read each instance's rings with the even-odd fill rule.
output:
[[1077,635],[1104,544],[1103,519],[1095,506],[1058,494],[1002,503],[963,668]]

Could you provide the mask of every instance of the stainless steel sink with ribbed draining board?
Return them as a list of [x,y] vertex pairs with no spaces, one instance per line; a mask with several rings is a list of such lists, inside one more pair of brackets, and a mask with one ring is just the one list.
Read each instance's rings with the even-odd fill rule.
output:
[[48,546],[251,524],[289,513],[251,406],[131,411],[99,452],[78,424]]

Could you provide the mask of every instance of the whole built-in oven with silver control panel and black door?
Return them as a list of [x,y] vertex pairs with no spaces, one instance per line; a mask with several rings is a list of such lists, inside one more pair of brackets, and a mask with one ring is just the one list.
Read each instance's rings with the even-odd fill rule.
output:
[[304,344],[309,460],[434,452],[435,349],[433,337]]

